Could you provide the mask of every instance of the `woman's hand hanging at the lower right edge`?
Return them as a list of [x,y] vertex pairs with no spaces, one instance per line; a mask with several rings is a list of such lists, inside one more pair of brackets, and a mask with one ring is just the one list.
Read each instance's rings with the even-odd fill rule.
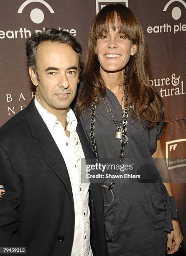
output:
[[[178,221],[173,220],[173,230],[167,234],[167,254],[173,254],[178,251],[183,235]],[[170,249],[169,249],[170,248]]]

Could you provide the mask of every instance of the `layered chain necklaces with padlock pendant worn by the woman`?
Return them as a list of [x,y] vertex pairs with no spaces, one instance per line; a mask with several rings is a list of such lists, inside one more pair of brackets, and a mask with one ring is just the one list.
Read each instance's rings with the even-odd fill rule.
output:
[[[105,108],[107,109],[107,112],[110,113],[110,115],[112,116],[112,120],[114,121],[114,123],[115,123],[115,125],[117,127],[117,130],[116,130],[116,133],[115,133],[115,138],[120,139],[120,142],[121,142],[119,164],[122,163],[122,159],[124,157],[125,146],[126,146],[126,144],[128,142],[128,137],[126,135],[126,131],[127,131],[127,127],[126,126],[127,126],[127,117],[128,117],[128,113],[127,113],[127,111],[128,111],[128,108],[127,108],[127,100],[128,100],[127,84],[125,84],[124,96],[125,96],[125,107],[124,107],[124,109],[122,109],[122,116],[121,116],[121,119],[120,119],[120,125],[117,125],[117,123],[115,122],[115,118],[112,115],[112,111],[111,111],[110,105],[108,104],[106,98],[104,98]],[[105,100],[106,100],[109,108],[107,108],[107,106],[105,104]],[[122,97],[122,100],[123,100],[123,97]],[[92,150],[94,152],[95,158],[98,161],[97,145],[96,145],[96,140],[94,138],[94,122],[95,122],[95,115],[96,115],[96,102],[97,102],[97,98],[95,98],[95,100],[92,102],[92,112],[91,112],[91,122],[90,122],[90,137],[91,137],[91,143],[92,143]],[[130,105],[129,108],[132,108],[132,106]],[[123,121],[122,121],[122,119],[123,119]],[[124,137],[124,140],[123,140],[123,137]],[[118,169],[117,172],[115,173],[115,177],[117,177],[117,175],[119,173],[120,173],[120,169]],[[109,204],[107,204],[107,205],[104,205],[104,206],[108,206],[108,205],[110,205],[114,201],[115,195],[114,195],[113,187],[115,186],[116,181],[117,181],[117,178],[113,179],[109,186],[107,186],[107,185],[102,183],[102,187],[108,189],[111,192],[111,194],[112,194],[111,202]]]

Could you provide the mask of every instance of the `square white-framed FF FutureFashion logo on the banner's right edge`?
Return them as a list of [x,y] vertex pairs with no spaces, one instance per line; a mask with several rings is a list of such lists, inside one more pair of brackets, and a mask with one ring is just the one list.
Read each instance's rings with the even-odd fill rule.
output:
[[186,138],[166,141],[166,162],[168,169],[186,166],[186,158],[183,157],[186,148]]

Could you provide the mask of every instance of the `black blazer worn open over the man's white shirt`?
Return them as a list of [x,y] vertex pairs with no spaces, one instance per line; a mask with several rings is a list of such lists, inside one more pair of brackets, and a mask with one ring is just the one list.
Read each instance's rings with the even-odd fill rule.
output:
[[[80,123],[77,132],[85,157],[93,158]],[[34,100],[0,128],[0,181],[7,191],[0,201],[0,247],[27,247],[30,256],[70,256],[74,201],[69,174]],[[92,249],[104,256],[102,188],[90,187]]]

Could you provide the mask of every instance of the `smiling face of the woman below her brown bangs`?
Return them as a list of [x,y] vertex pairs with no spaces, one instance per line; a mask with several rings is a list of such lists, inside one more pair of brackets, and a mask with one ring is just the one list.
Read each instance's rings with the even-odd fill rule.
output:
[[136,50],[137,46],[117,30],[110,29],[108,33],[103,33],[95,46],[100,71],[118,72],[125,69],[130,55],[134,55]]

